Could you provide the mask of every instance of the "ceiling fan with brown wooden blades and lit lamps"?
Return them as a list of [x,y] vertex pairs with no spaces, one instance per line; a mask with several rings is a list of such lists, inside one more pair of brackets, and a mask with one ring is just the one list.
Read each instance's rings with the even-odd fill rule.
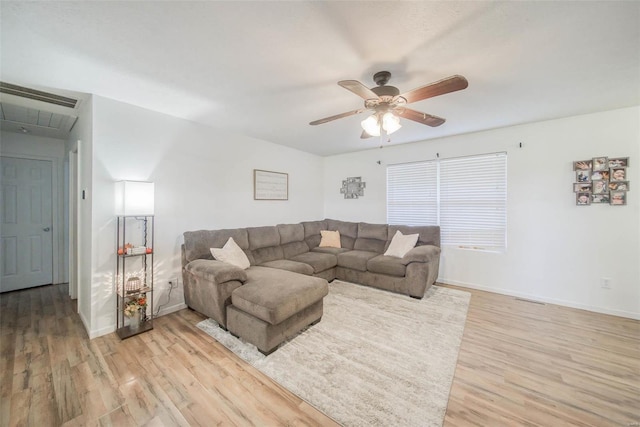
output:
[[372,111],[373,114],[362,121],[361,124],[364,131],[360,138],[379,136],[382,131],[386,132],[387,135],[392,134],[402,127],[402,125],[400,125],[400,117],[427,126],[436,127],[443,124],[445,119],[412,110],[411,108],[407,108],[406,105],[412,102],[422,101],[423,99],[433,98],[434,96],[462,90],[469,85],[467,79],[455,75],[400,94],[398,88],[387,86],[390,78],[391,73],[389,71],[379,71],[375,73],[373,75],[373,81],[377,86],[371,89],[357,80],[339,81],[338,84],[340,86],[364,99],[364,108],[325,117],[324,119],[315,120],[309,124],[320,125],[369,110]]

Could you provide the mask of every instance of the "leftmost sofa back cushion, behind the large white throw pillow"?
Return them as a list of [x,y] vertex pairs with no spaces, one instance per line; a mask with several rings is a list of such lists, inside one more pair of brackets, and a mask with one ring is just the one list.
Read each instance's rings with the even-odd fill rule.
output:
[[211,248],[221,248],[227,243],[229,237],[233,237],[233,240],[244,250],[249,261],[253,264],[249,251],[249,237],[244,228],[186,231],[183,235],[187,263],[196,259],[213,259]]

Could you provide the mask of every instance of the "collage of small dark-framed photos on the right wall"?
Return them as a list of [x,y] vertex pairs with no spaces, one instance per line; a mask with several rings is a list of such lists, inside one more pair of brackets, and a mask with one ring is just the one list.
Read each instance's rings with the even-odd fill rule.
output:
[[628,157],[594,157],[591,160],[573,162],[576,205],[626,205],[629,191],[628,167]]

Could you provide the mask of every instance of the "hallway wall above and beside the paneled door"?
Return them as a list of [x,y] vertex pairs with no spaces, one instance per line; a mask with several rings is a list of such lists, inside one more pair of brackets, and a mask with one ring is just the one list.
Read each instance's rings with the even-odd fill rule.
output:
[[64,250],[64,141],[15,132],[0,132],[0,155],[52,162],[53,282],[65,283]]

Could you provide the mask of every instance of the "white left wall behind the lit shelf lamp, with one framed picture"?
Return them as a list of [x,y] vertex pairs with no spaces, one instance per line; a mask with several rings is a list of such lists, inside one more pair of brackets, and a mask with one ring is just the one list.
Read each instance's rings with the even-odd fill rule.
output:
[[[182,233],[321,219],[322,158],[93,97],[92,324],[114,330],[114,182],[155,182],[155,307],[184,307]],[[289,174],[288,201],[254,201],[253,169]],[[180,286],[167,303],[168,281]]]

